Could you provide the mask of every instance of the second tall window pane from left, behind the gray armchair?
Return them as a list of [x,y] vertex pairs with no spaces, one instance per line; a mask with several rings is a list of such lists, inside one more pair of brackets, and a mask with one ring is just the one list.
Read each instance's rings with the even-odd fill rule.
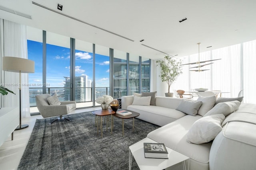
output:
[[46,92],[70,100],[70,38],[46,32]]

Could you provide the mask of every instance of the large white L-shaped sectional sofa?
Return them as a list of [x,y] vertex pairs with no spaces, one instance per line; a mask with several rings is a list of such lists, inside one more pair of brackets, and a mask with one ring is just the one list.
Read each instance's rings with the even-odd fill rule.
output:
[[[122,97],[122,109],[136,111],[140,113],[138,119],[160,125],[160,128],[150,132],[147,137],[190,157],[186,161],[187,169],[256,169],[254,160],[256,158],[255,104],[240,105],[238,102],[239,109],[226,116],[221,124],[222,130],[217,133],[214,140],[194,144],[187,141],[187,134],[195,122],[199,119],[202,120],[201,118],[204,116],[187,115],[176,110],[182,99],[156,96],[156,106],[138,106],[132,105],[133,98],[134,96]],[[226,111],[224,110],[224,112]],[[225,115],[225,113],[223,114]],[[177,164],[169,169],[182,169],[182,164]]]

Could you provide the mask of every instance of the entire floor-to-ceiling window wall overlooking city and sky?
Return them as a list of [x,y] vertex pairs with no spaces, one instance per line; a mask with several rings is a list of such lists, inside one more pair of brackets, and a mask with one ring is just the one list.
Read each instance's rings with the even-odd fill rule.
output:
[[76,100],[79,108],[98,106],[95,99],[103,94],[120,98],[149,92],[149,59],[28,28],[28,58],[35,61],[35,73],[29,74],[31,107],[36,106],[35,96],[43,93],[57,93],[60,101]]

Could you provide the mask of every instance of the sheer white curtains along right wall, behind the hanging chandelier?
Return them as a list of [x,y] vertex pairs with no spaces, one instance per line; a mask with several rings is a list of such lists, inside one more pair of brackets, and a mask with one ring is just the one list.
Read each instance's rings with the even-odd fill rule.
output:
[[[256,40],[200,53],[200,61],[213,64],[202,67],[204,72],[189,71],[194,65],[184,65],[183,74],[172,85],[176,90],[191,91],[194,88],[220,90],[222,97],[237,97],[244,90],[244,103],[256,104]],[[198,61],[198,54],[183,59],[183,64]],[[158,75],[158,74],[157,74]],[[161,87],[157,90],[161,91]]]

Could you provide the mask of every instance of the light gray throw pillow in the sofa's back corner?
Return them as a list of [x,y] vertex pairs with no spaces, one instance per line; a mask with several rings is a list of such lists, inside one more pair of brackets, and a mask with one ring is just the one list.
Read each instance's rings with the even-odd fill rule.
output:
[[182,111],[183,113],[194,116],[197,114],[197,111],[201,105],[202,105],[201,101],[193,102],[193,101],[182,100],[182,102],[180,102],[180,105],[176,108],[176,110]]

